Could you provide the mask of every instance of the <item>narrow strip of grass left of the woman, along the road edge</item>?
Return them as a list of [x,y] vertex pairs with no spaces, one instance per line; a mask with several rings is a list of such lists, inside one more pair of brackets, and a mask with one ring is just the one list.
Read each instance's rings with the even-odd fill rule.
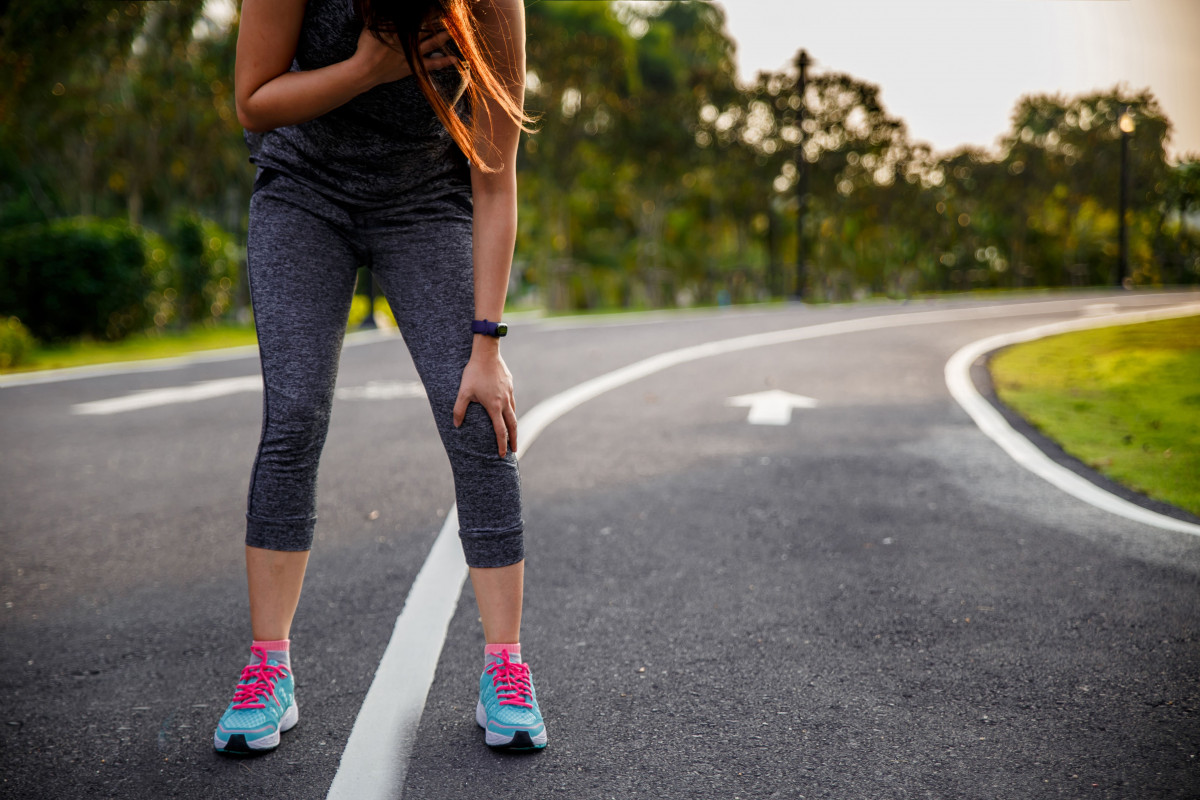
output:
[[254,344],[257,341],[253,325],[224,325],[196,327],[190,331],[138,333],[120,342],[84,341],[56,345],[40,344],[18,366],[0,372],[30,372],[119,361],[140,361],[143,359],[167,359],[202,350]]

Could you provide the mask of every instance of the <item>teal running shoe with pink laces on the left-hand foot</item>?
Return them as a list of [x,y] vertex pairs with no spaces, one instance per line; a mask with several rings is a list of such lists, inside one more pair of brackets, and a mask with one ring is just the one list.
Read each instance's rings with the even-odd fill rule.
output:
[[251,646],[258,663],[247,664],[221,715],[212,746],[221,753],[260,753],[280,746],[280,733],[300,721],[292,670],[268,660],[266,650]]

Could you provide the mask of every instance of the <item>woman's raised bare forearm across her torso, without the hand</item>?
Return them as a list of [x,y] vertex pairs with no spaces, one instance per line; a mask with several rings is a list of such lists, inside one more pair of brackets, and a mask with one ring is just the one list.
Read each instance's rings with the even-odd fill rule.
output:
[[319,70],[284,72],[238,103],[238,121],[256,133],[307,122],[346,104],[372,86],[356,59]]

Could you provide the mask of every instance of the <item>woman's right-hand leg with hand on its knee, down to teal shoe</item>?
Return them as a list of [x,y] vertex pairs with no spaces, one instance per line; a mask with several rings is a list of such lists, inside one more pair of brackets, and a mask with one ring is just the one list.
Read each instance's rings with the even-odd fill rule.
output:
[[458,536],[487,639],[475,721],[490,746],[540,748],[546,726],[520,644],[524,523],[516,455],[497,453],[492,421],[478,403],[460,427],[452,420],[474,336],[470,212],[452,201],[422,211],[416,224],[371,231],[372,264],[454,470]]

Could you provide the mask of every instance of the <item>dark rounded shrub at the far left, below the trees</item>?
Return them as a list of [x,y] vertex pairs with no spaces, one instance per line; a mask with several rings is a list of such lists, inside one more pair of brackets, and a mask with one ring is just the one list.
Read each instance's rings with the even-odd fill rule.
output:
[[0,313],[34,336],[119,339],[151,317],[146,296],[164,259],[119,219],[88,217],[29,224],[0,234]]

